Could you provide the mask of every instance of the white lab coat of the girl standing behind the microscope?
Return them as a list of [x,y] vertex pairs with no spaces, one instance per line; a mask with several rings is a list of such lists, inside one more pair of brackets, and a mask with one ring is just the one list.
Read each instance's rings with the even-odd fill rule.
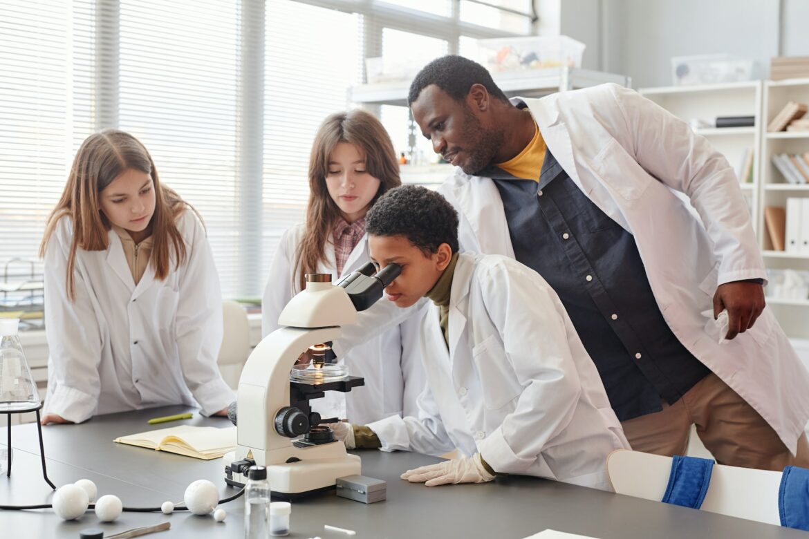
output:
[[[294,260],[305,230],[303,224],[294,226],[286,230],[278,243],[261,301],[261,333],[264,336],[277,330],[281,311],[298,292],[299,272]],[[331,274],[332,283],[337,283],[341,276],[335,269],[337,263],[332,242],[326,244],[324,255],[325,261],[320,263],[317,271]],[[370,259],[366,234],[351,251],[343,275],[349,275]],[[327,391],[324,398],[311,402],[312,410],[324,418],[348,418],[352,423],[371,423],[389,415],[413,413],[416,398],[425,384],[421,360],[412,344],[417,341],[417,330],[417,321],[404,321],[366,339],[348,354],[338,355],[338,360],[348,365],[351,376],[365,378],[365,385],[349,393]]]

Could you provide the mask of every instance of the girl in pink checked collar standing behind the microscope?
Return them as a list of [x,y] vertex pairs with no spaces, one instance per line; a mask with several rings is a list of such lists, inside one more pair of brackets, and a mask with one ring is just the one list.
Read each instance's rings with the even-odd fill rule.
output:
[[[306,222],[286,230],[270,266],[263,335],[279,327],[278,316],[303,288],[306,273],[329,273],[333,283],[368,262],[365,214],[400,183],[396,152],[375,116],[355,109],[324,120],[309,159]],[[313,410],[361,424],[413,415],[425,386],[421,360],[412,352],[417,326],[404,322],[338,358],[351,375],[365,378],[365,386],[345,394],[328,391],[312,402]]]

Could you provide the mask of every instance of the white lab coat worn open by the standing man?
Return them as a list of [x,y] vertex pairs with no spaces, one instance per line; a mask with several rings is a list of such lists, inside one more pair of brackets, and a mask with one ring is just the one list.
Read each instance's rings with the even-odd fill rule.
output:
[[[766,278],[747,204],[726,159],[688,124],[614,84],[524,102],[574,183],[633,234],[654,297],[680,343],[794,453],[809,419],[809,375],[773,314],[765,309],[752,329],[722,344],[714,326],[718,284]],[[456,168],[440,191],[460,213],[463,249],[514,257],[491,179]],[[688,196],[701,220],[674,191]]]

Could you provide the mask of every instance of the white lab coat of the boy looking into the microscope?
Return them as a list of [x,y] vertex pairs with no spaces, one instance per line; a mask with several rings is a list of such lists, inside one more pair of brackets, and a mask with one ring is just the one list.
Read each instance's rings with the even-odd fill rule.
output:
[[369,425],[383,449],[457,447],[480,452],[498,472],[612,490],[607,456],[629,444],[549,284],[513,259],[461,254],[448,352],[438,307],[430,307],[420,317],[428,389],[417,418]]

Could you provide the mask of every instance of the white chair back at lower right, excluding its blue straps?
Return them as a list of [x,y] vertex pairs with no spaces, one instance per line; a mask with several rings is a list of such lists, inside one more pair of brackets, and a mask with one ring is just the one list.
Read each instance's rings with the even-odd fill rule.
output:
[[[671,457],[619,449],[607,457],[616,493],[660,501],[671,474]],[[781,524],[778,488],[781,472],[714,464],[703,511],[767,524]]]

